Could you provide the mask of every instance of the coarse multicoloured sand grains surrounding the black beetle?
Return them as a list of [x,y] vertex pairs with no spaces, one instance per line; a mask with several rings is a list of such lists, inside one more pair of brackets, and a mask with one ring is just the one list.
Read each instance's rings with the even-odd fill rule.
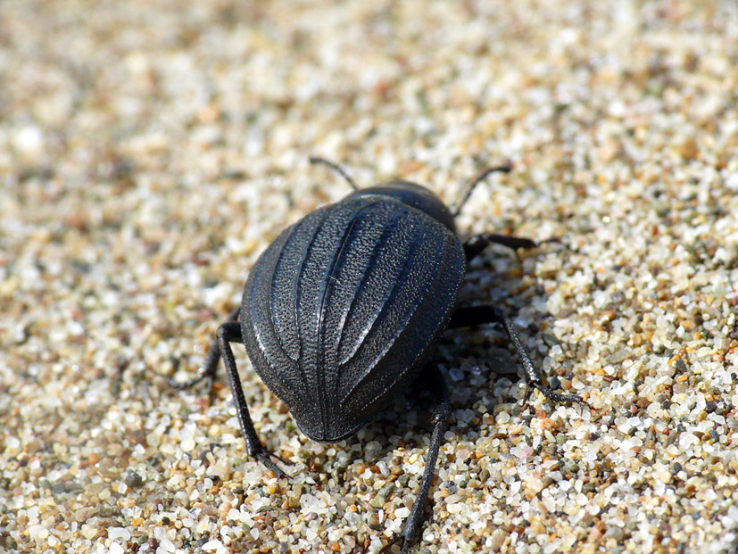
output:
[[288,223],[362,185],[426,184],[490,248],[461,302],[493,326],[436,359],[450,430],[419,552],[728,552],[738,539],[734,2],[0,4],[0,551],[377,552],[429,441],[398,398],[308,441],[238,364],[195,376]]

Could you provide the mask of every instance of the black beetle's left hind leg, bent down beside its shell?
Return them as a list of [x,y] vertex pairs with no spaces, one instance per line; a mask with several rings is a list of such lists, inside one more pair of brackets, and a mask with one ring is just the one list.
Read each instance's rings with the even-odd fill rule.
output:
[[230,384],[230,390],[233,393],[233,401],[236,404],[236,414],[238,415],[238,421],[241,423],[241,431],[244,433],[246,451],[249,456],[258,459],[267,469],[270,469],[278,476],[286,476],[285,472],[271,459],[272,457],[279,458],[267,451],[261,444],[259,435],[256,434],[256,429],[253,428],[253,421],[249,415],[249,408],[244,396],[244,388],[241,386],[241,377],[238,375],[238,368],[236,368],[236,359],[233,357],[233,351],[230,348],[230,343],[244,343],[244,339],[241,336],[241,325],[236,321],[224,323],[218,327],[215,336],[220,347],[220,354],[223,356],[223,363],[228,372],[228,382]]

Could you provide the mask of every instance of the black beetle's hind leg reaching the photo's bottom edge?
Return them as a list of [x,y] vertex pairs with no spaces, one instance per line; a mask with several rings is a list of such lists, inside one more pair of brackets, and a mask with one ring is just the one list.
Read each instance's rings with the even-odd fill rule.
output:
[[428,447],[426,457],[426,468],[423,471],[423,478],[420,481],[420,487],[418,490],[418,496],[415,498],[415,503],[410,509],[410,516],[405,520],[405,525],[402,525],[402,532],[394,537],[382,550],[379,552],[385,552],[389,550],[395,543],[402,541],[402,554],[406,554],[410,551],[410,547],[415,541],[416,536],[421,524],[421,518],[423,515],[423,509],[426,507],[428,491],[430,491],[430,484],[433,481],[433,474],[435,473],[435,462],[438,459],[438,451],[441,449],[441,442],[444,440],[444,433],[448,429],[448,418],[451,415],[451,406],[449,401],[448,387],[446,386],[446,380],[441,370],[435,365],[427,365],[426,368],[420,373],[418,379],[422,379],[421,383],[427,388],[430,388],[431,393],[434,397],[435,409],[433,410],[433,434],[430,439],[430,446]]

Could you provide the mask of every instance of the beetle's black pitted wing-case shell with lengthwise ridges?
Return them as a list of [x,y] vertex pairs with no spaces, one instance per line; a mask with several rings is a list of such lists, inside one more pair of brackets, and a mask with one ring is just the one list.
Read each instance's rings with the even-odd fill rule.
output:
[[340,441],[417,376],[465,267],[459,239],[407,204],[325,206],[257,260],[241,310],[246,351],[304,434]]

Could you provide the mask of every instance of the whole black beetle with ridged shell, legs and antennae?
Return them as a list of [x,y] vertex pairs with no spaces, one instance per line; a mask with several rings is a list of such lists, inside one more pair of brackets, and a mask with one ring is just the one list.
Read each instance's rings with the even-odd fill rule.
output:
[[[359,189],[344,170],[321,158],[354,189],[287,227],[263,252],[246,280],[241,306],[221,325],[203,371],[185,388],[215,375],[220,356],[241,423],[246,450],[285,475],[253,428],[230,343],[244,343],[261,380],[284,401],[303,433],[338,442],[374,418],[392,397],[420,380],[433,394],[433,435],[418,498],[400,536],[402,551],[419,530],[435,461],[448,426],[444,376],[427,363],[447,327],[501,323],[522,364],[528,395],[538,389],[552,401],[586,404],[553,393],[528,357],[510,318],[490,304],[457,307],[469,264],[490,243],[532,248],[527,238],[485,233],[461,244],[452,212],[423,186],[406,181]],[[239,323],[240,316],[240,323]],[[284,461],[279,459],[280,461]]]

